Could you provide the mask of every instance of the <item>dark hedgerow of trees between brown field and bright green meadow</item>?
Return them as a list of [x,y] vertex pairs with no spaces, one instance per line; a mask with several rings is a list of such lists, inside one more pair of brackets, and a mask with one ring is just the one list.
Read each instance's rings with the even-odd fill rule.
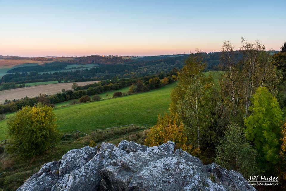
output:
[[161,72],[158,75],[145,76],[136,79],[119,79],[118,77],[113,77],[111,80],[102,80],[98,83],[85,86],[77,86],[77,84],[74,83],[72,86],[74,91],[63,90],[62,92],[51,96],[40,94],[40,96],[33,98],[24,97],[20,100],[5,100],[4,105],[0,105],[0,114],[15,112],[23,106],[33,106],[38,102],[54,107],[55,103],[74,100],[83,96],[100,94],[111,90],[119,90],[120,88],[127,86],[136,87],[131,88],[129,91],[130,94],[149,91],[150,89],[160,88],[163,85],[172,83],[174,80],[172,80],[171,76],[176,75],[177,70],[178,69],[174,68],[168,73]]

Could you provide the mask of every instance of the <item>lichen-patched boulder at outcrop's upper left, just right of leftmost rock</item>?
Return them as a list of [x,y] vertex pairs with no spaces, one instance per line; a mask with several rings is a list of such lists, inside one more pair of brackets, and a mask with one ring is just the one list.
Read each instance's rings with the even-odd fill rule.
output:
[[81,149],[73,149],[67,152],[60,163],[59,176],[71,173],[74,169],[83,166],[90,161],[97,153],[97,148],[83,147]]

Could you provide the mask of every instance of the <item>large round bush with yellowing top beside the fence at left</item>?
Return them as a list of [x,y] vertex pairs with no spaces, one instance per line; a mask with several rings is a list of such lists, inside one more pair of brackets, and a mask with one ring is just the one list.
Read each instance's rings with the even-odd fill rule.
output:
[[38,103],[33,107],[22,107],[7,121],[7,132],[11,138],[7,151],[24,156],[43,153],[60,141],[55,121],[53,108],[47,105]]

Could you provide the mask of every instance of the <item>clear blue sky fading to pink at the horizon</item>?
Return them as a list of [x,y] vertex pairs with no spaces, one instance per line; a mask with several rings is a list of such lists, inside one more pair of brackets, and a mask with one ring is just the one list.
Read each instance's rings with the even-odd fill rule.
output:
[[0,0],[0,55],[217,52],[229,40],[286,41],[286,1]]

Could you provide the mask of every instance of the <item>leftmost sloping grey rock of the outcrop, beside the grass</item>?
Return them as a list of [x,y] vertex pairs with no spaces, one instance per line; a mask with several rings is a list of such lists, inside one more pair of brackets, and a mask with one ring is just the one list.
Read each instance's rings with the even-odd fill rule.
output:
[[32,175],[17,191],[47,191],[59,179],[60,161],[48,162]]

